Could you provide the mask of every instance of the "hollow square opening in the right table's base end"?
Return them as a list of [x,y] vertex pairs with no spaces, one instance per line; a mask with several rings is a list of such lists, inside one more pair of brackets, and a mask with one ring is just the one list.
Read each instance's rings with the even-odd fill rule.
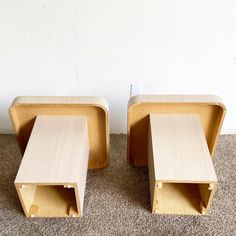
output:
[[209,184],[163,183],[156,188],[153,209],[161,214],[205,214],[211,193]]

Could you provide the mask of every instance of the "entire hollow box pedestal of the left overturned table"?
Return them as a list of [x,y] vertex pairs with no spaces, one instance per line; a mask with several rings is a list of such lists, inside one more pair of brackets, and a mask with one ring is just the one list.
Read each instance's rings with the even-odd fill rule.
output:
[[15,186],[27,217],[81,217],[89,158],[87,119],[37,116]]

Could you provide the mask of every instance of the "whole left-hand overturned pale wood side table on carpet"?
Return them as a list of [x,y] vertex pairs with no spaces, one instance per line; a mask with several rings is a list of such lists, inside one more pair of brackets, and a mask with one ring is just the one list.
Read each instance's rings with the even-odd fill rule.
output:
[[27,217],[81,217],[87,169],[108,165],[108,105],[98,97],[18,97],[9,110],[23,159]]

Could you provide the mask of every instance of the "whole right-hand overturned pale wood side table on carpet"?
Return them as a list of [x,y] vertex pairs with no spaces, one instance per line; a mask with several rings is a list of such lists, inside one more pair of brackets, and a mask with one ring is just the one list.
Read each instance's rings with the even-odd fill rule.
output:
[[128,161],[149,169],[153,213],[206,214],[225,116],[217,96],[140,95],[128,105]]

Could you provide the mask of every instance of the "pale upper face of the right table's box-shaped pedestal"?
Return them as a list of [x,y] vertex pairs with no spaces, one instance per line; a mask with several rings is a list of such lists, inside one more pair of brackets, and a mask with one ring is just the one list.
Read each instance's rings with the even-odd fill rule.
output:
[[157,181],[217,182],[198,115],[150,115]]

